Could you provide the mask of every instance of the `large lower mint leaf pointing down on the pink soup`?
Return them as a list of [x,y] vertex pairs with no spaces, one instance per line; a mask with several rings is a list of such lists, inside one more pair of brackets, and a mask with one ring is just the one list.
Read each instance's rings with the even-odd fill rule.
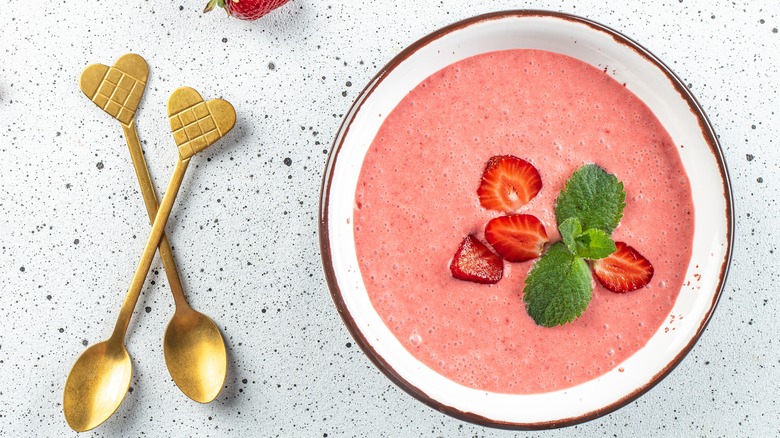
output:
[[536,261],[525,279],[526,310],[541,326],[571,322],[588,307],[593,292],[591,281],[585,260],[569,252],[563,242],[557,242]]

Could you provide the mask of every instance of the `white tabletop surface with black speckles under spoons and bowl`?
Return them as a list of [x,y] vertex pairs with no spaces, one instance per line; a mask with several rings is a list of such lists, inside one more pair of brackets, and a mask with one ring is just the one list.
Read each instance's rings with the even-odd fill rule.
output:
[[[205,3],[205,0],[203,1]],[[440,414],[356,347],[317,239],[322,172],[343,114],[405,46],[456,20],[571,12],[643,44],[689,84],[720,135],[736,246],[719,309],[657,387],[595,421],[518,436],[780,435],[780,4],[294,0],[257,22],[201,2],[27,3],[0,14],[0,436],[72,436],[67,373],[107,337],[149,230],[118,123],[89,103],[89,63],[142,54],[137,125],[162,191],[165,103],[180,85],[223,97],[234,132],[194,159],[168,224],[191,303],[229,345],[226,389],[199,405],[163,362],[173,310],[159,261],[131,322],[132,392],[94,436],[508,436]]]

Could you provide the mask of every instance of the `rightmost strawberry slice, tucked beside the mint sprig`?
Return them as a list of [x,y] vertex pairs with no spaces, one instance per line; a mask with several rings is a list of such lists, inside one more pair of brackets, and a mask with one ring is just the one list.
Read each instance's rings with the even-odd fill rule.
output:
[[637,250],[623,242],[615,242],[617,251],[609,257],[593,263],[593,273],[607,289],[624,293],[637,290],[650,283],[653,265]]

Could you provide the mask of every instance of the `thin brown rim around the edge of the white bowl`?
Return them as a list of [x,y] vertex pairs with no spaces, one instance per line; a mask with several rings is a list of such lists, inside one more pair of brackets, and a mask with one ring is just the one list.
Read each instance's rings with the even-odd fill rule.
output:
[[[653,376],[653,378],[648,383],[635,389],[629,395],[607,406],[603,406],[599,409],[595,409],[593,411],[590,411],[580,416],[562,418],[554,421],[536,422],[536,423],[512,423],[512,422],[498,421],[474,413],[463,412],[459,409],[456,409],[452,406],[445,405],[442,402],[429,397],[425,392],[415,387],[414,385],[410,384],[398,372],[396,372],[395,369],[393,369],[393,367],[391,367],[390,364],[388,364],[387,361],[385,361],[385,359],[382,356],[380,356],[376,352],[376,350],[374,350],[374,348],[365,338],[363,333],[361,333],[360,330],[358,330],[355,321],[352,318],[352,315],[349,313],[349,310],[346,307],[344,299],[341,296],[341,289],[339,287],[335,272],[333,270],[332,255],[330,251],[330,242],[328,237],[329,236],[328,205],[330,200],[331,182],[333,180],[333,169],[335,167],[336,161],[339,158],[339,152],[341,151],[344,138],[349,132],[355,114],[357,114],[357,112],[360,110],[361,106],[368,98],[368,96],[371,95],[374,88],[376,88],[376,86],[379,83],[381,83],[384,80],[384,78],[390,72],[392,72],[399,64],[401,64],[403,61],[408,59],[412,54],[420,50],[422,47],[428,45],[432,41],[437,40],[444,35],[447,35],[449,33],[452,33],[454,31],[463,29],[465,27],[477,23],[504,19],[504,18],[511,18],[511,17],[551,17],[551,18],[558,18],[561,20],[571,21],[579,24],[584,24],[596,31],[603,32],[610,35],[616,42],[634,50],[640,56],[645,58],[648,62],[658,67],[671,81],[671,83],[674,85],[675,89],[680,94],[680,96],[688,102],[688,106],[690,107],[691,112],[693,112],[693,114],[696,116],[699,122],[699,128],[701,129],[702,136],[707,141],[707,144],[710,147],[710,151],[712,152],[713,156],[718,162],[718,167],[721,174],[721,180],[723,182],[723,194],[725,196],[725,201],[726,201],[726,212],[725,212],[726,221],[727,221],[726,240],[728,241],[728,248],[726,249],[726,257],[725,260],[723,261],[720,270],[720,278],[718,281],[717,293],[713,297],[712,303],[710,304],[710,308],[707,311],[707,315],[702,320],[701,324],[699,325],[699,328],[696,331],[696,334],[693,336],[693,338],[688,343],[688,345],[686,345],[680,351],[680,353],[678,353],[677,356],[675,356],[674,359],[672,359],[666,365],[666,367],[664,367],[658,374]],[[715,132],[712,129],[712,125],[710,124],[710,121],[707,119],[707,116],[704,114],[704,111],[702,110],[696,98],[690,93],[687,87],[685,87],[683,82],[679,78],[677,78],[677,76],[672,72],[672,70],[669,69],[669,67],[667,67],[663,62],[661,62],[661,60],[659,60],[655,55],[650,53],[650,51],[642,47],[637,42],[624,36],[620,32],[613,30],[602,24],[588,20],[586,18],[578,17],[576,15],[570,15],[562,12],[544,11],[544,10],[499,11],[499,12],[492,12],[484,15],[478,15],[476,17],[467,18],[465,20],[443,27],[417,40],[412,45],[404,49],[401,53],[396,55],[384,68],[382,68],[376,74],[376,76],[374,76],[374,78],[371,79],[368,85],[366,85],[363,91],[361,91],[357,99],[355,99],[355,102],[352,104],[352,107],[350,108],[349,112],[344,117],[344,121],[342,122],[341,127],[339,128],[339,132],[333,141],[333,148],[331,149],[330,154],[328,156],[328,163],[325,168],[325,173],[323,174],[322,188],[320,192],[320,223],[319,223],[320,251],[322,255],[323,267],[325,268],[325,277],[328,282],[328,287],[330,288],[331,296],[333,298],[334,303],[336,304],[336,307],[338,308],[339,314],[341,315],[341,318],[344,320],[344,324],[347,326],[347,329],[352,334],[352,337],[355,338],[355,341],[358,343],[358,345],[360,345],[360,348],[363,349],[363,352],[368,356],[369,359],[371,359],[371,361],[374,363],[374,365],[376,365],[377,368],[379,368],[380,371],[382,371],[391,381],[393,381],[393,383],[398,385],[401,389],[411,394],[419,401],[432,407],[433,409],[436,409],[439,412],[445,413],[447,415],[458,418],[460,420],[468,421],[482,426],[496,427],[502,429],[515,429],[515,430],[552,429],[558,427],[571,426],[574,424],[584,423],[586,421],[593,420],[595,418],[609,414],[610,412],[619,409],[627,405],[628,403],[636,400],[639,396],[646,393],[648,390],[650,390],[650,388],[652,388],[653,386],[658,384],[658,382],[663,380],[664,377],[666,377],[677,365],[679,365],[682,359],[693,348],[693,346],[696,344],[696,342],[699,340],[702,333],[704,332],[704,329],[707,327],[707,324],[709,323],[710,318],[712,317],[712,314],[715,311],[715,307],[717,306],[720,296],[723,292],[726,276],[728,274],[729,266],[731,264],[732,248],[734,246],[734,216],[733,216],[732,204],[733,204],[733,198],[731,193],[731,183],[729,180],[728,170],[726,168],[726,163],[723,158],[723,152],[715,136]]]

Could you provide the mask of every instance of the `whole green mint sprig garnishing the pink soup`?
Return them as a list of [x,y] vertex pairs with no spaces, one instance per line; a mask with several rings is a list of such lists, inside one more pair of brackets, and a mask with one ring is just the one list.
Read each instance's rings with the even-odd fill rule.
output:
[[610,235],[623,217],[625,200],[623,183],[595,164],[580,167],[566,182],[555,201],[562,241],[536,261],[523,289],[526,310],[537,324],[563,325],[587,309],[593,280],[586,260],[615,252]]

